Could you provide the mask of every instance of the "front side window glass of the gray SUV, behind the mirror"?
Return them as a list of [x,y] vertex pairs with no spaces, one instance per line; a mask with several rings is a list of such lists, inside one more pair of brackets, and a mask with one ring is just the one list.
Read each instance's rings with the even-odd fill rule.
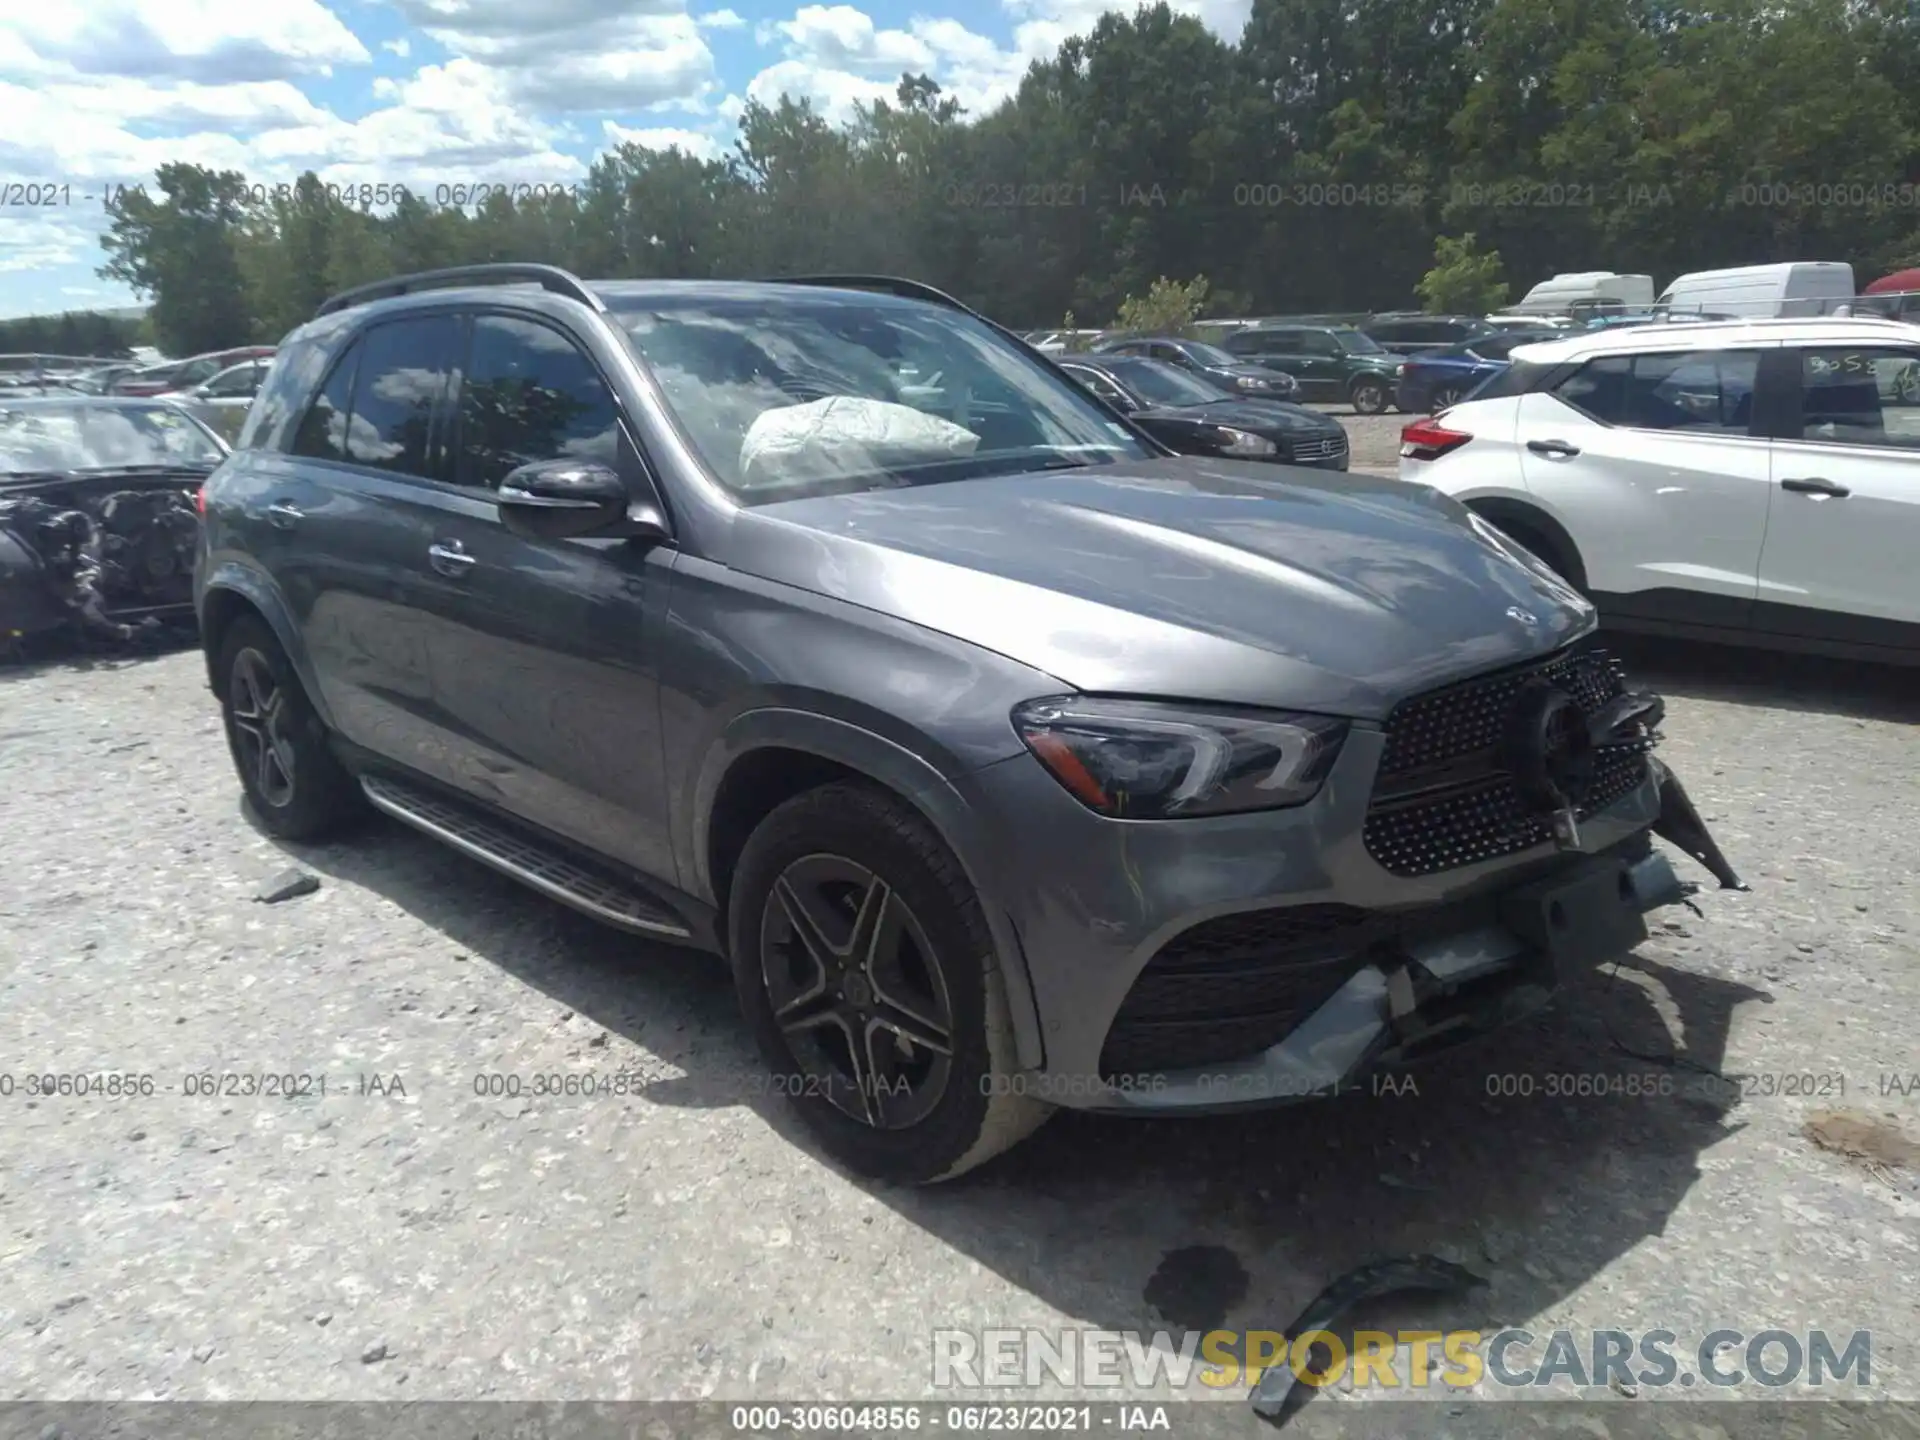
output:
[[480,315],[461,382],[459,445],[459,482],[484,490],[499,490],[509,472],[534,461],[618,465],[612,392],[593,361],[553,326]]

